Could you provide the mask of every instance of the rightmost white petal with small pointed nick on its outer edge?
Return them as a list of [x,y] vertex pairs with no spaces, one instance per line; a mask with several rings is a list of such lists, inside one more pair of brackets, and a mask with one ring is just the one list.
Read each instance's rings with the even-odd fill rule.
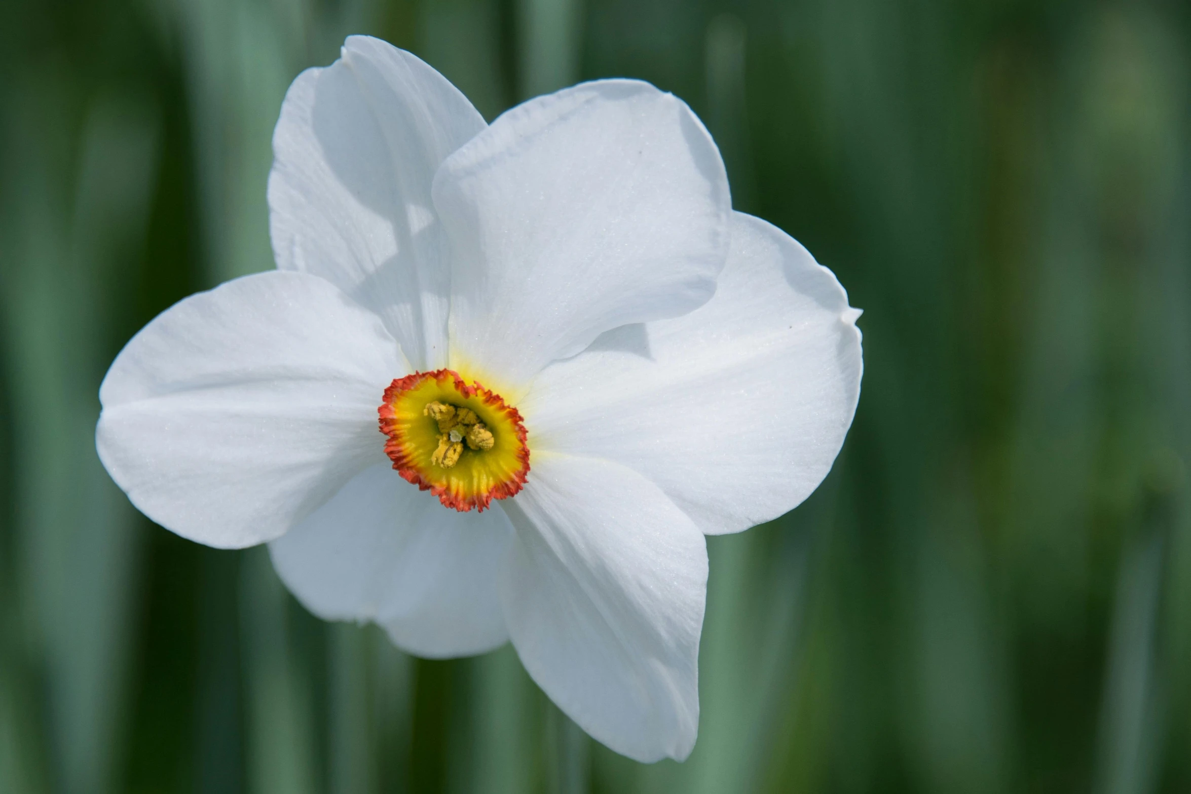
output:
[[793,238],[735,213],[711,301],[607,333],[543,371],[518,407],[535,454],[618,461],[704,532],[747,530],[830,470],[860,395],[859,314]]

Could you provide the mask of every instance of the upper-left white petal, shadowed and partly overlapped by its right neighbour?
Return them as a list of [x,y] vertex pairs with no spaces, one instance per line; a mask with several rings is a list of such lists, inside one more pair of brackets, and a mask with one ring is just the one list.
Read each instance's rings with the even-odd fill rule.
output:
[[450,274],[430,185],[485,126],[429,65],[353,36],[338,61],[294,80],[273,135],[278,267],[330,279],[375,311],[418,369],[447,360]]

